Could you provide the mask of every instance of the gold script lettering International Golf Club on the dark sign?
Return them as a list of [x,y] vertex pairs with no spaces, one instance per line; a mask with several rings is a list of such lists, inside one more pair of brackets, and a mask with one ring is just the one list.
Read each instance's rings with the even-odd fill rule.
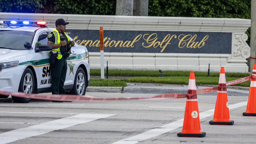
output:
[[[70,34],[70,33],[68,33]],[[137,35],[132,41],[123,41],[123,40],[111,40],[110,37],[104,37],[103,39],[103,44],[104,47],[110,47],[110,48],[114,48],[114,47],[119,47],[119,48],[132,48],[134,47],[134,44],[136,42],[138,42],[141,38],[143,37],[143,42],[141,43],[141,45],[144,48],[157,48],[160,47],[162,48],[160,52],[163,52],[165,50],[165,48],[168,45],[171,45],[171,40],[172,39],[176,39],[178,37],[178,47],[179,48],[202,48],[203,46],[205,46],[205,41],[209,38],[209,35],[205,35],[203,37],[203,39],[199,39],[197,37],[197,34],[195,35],[184,35],[184,34],[180,34],[179,36],[177,35],[171,35],[171,34],[167,34],[163,40],[158,40],[158,35],[157,33],[153,33],[153,34],[139,34]],[[84,46],[90,46],[90,47],[100,47],[100,41],[99,40],[80,40],[78,39],[78,36],[74,37],[74,41],[80,45],[84,45]],[[170,46],[169,46],[170,47]]]

